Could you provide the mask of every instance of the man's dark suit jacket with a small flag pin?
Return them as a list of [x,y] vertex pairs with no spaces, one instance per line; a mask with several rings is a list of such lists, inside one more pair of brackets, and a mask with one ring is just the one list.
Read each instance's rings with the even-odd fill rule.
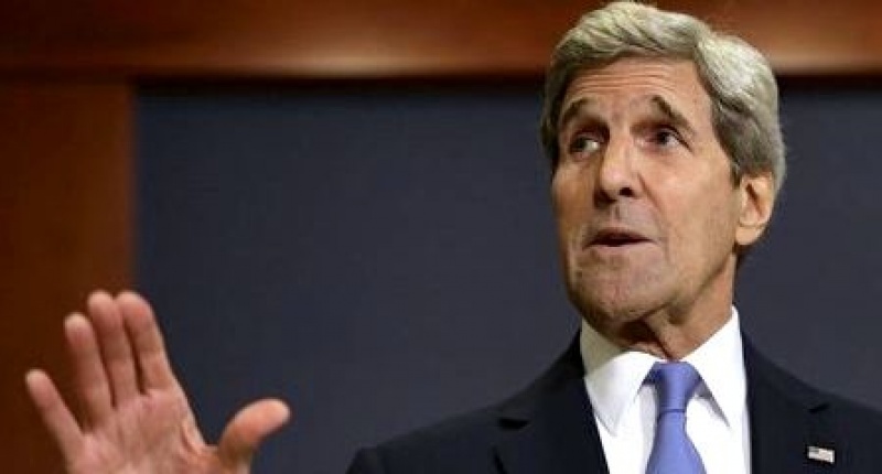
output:
[[[809,387],[746,341],[744,362],[753,474],[882,473],[882,414]],[[607,473],[583,374],[577,338],[518,395],[362,450],[348,473]],[[810,460],[809,446],[835,462]]]

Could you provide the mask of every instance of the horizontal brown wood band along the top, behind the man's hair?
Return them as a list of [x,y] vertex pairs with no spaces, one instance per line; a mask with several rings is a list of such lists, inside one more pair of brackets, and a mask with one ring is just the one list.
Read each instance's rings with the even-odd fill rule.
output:
[[[235,77],[541,74],[596,0],[13,0],[0,71]],[[882,3],[668,0],[744,35],[787,74],[882,71]]]

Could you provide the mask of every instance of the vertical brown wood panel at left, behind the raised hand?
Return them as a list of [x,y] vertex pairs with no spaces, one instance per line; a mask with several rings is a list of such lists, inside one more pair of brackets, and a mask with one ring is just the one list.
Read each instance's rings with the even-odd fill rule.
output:
[[66,381],[63,313],[129,284],[129,89],[0,79],[0,123],[2,471],[58,472],[23,377],[39,366]]

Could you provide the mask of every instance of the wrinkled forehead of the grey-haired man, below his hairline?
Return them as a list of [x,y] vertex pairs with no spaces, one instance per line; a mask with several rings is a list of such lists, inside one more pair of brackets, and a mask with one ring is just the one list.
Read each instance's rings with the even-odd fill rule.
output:
[[633,57],[585,69],[567,87],[560,110],[587,105],[613,116],[650,106],[659,98],[690,121],[710,125],[710,97],[695,64],[687,60]]

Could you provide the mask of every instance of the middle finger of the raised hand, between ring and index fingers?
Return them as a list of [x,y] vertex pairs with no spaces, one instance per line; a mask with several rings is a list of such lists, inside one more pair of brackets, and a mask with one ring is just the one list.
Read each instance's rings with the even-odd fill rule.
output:
[[109,294],[101,291],[93,293],[88,299],[87,306],[110,380],[114,405],[119,407],[140,392],[138,369],[132,357],[129,337],[122,325],[117,302]]

